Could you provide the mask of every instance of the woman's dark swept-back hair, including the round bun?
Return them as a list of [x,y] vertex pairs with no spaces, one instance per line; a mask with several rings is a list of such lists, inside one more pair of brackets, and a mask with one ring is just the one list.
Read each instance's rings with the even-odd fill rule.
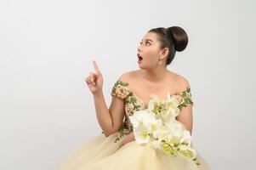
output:
[[188,44],[188,36],[184,29],[179,26],[158,27],[148,32],[155,32],[157,34],[161,49],[169,49],[166,65],[173,61],[176,51],[183,51]]

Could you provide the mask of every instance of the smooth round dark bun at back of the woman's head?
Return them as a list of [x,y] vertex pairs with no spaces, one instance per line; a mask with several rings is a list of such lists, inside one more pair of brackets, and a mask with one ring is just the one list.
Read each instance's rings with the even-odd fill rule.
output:
[[171,26],[168,28],[168,34],[174,40],[174,48],[176,51],[180,52],[186,48],[188,44],[188,36],[183,28],[179,26]]

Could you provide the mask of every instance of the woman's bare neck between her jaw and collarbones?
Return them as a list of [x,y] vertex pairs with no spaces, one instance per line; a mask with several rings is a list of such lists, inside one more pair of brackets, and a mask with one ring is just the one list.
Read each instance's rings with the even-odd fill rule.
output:
[[141,74],[149,82],[162,82],[168,73],[166,67],[159,65],[153,69],[140,69]]

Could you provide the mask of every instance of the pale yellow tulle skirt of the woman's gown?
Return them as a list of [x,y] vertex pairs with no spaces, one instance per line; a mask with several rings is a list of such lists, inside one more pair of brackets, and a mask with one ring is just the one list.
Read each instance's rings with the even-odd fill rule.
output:
[[[91,137],[71,150],[56,164],[55,170],[209,170],[208,164],[197,151],[198,166],[185,156],[170,156],[156,150],[151,142],[124,144],[114,140],[117,133],[108,137],[101,133]],[[195,148],[194,148],[195,149]]]

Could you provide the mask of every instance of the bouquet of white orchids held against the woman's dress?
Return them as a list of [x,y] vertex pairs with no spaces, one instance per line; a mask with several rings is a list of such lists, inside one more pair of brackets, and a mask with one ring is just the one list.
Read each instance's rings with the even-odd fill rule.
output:
[[191,147],[191,133],[175,119],[179,115],[179,99],[169,95],[167,99],[159,99],[151,94],[148,109],[135,111],[129,116],[133,124],[135,140],[139,144],[152,141],[155,149],[168,155],[185,156],[200,165],[196,159],[196,150]]

